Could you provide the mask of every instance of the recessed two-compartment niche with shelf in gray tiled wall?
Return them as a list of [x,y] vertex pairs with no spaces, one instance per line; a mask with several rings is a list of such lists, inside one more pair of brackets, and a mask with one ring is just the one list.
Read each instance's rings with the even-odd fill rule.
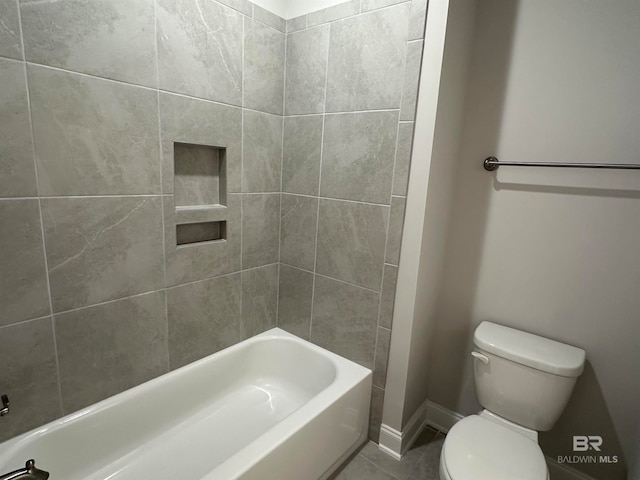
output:
[[174,143],[176,243],[179,247],[226,240],[226,149]]

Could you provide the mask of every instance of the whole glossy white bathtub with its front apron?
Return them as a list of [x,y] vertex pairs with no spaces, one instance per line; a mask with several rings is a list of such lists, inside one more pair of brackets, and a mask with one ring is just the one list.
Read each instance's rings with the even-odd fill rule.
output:
[[275,328],[0,444],[0,474],[326,478],[364,442],[370,394],[370,370]]

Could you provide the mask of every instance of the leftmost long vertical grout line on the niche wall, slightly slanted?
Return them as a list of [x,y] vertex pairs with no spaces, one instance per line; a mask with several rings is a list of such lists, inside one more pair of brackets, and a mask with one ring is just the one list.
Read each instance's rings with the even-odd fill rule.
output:
[[[26,52],[24,46],[24,34],[22,31],[22,12],[20,11],[20,3],[16,0],[18,7],[18,29],[20,31],[20,42],[22,43],[22,58],[26,59]],[[51,335],[53,340],[53,354],[56,359],[56,375],[58,386],[58,401],[60,406],[60,413],[64,415],[64,404],[62,402],[62,380],[60,377],[60,360],[58,356],[58,340],[56,338],[56,320],[53,313],[53,295],[51,294],[51,279],[49,274],[49,260],[47,258],[47,242],[44,235],[44,218],[42,216],[42,197],[40,197],[40,177],[38,175],[38,161],[36,153],[36,137],[33,130],[33,110],[31,108],[31,93],[29,92],[29,75],[27,73],[27,62],[23,62],[24,72],[24,84],[27,94],[27,109],[29,111],[29,133],[31,135],[31,154],[33,158],[33,169],[36,180],[36,192],[38,194],[38,214],[40,216],[40,235],[42,239],[42,255],[44,259],[45,277],[47,279],[47,294],[49,295],[49,316],[51,322]]]

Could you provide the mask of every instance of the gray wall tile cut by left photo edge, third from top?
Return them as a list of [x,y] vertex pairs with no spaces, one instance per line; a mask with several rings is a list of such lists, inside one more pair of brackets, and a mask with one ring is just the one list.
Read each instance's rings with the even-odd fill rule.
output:
[[0,326],[50,313],[38,200],[0,200]]

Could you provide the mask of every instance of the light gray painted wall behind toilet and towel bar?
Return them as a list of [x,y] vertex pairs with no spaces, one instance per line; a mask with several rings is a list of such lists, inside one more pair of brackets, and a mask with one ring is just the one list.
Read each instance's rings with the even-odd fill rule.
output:
[[[429,398],[477,411],[469,349],[493,320],[577,345],[589,364],[554,430],[631,458],[640,418],[640,172],[485,172],[502,159],[640,162],[640,2],[478,2]],[[596,478],[623,466],[587,465]]]

